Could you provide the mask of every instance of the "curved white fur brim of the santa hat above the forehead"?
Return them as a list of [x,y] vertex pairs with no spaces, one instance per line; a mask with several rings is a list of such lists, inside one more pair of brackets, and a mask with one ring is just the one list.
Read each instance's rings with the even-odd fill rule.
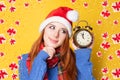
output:
[[59,22],[59,23],[62,23],[63,25],[65,25],[65,27],[68,30],[69,37],[71,37],[71,35],[72,35],[72,26],[71,26],[70,22],[67,21],[65,18],[62,18],[60,16],[53,16],[53,17],[47,18],[40,25],[39,31],[41,32],[46,27],[46,25],[48,25],[51,22]]

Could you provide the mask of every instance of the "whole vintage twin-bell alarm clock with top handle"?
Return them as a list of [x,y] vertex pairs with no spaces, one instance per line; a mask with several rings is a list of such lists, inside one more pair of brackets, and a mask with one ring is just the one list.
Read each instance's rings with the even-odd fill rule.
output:
[[[86,22],[85,20],[81,20],[80,22]],[[92,27],[88,26],[80,26],[79,23],[73,29],[73,42],[79,48],[87,48],[93,43],[93,34],[92,34]]]

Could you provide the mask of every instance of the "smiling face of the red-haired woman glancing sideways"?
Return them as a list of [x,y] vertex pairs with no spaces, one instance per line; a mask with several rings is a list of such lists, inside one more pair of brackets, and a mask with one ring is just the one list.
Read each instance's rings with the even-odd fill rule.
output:
[[45,27],[43,40],[45,46],[57,48],[61,46],[68,35],[67,28],[58,22],[52,22]]

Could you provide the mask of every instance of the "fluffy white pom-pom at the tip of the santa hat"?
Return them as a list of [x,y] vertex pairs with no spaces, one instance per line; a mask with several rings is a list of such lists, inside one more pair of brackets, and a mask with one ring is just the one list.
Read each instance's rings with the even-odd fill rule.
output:
[[72,22],[76,22],[79,18],[79,14],[75,10],[68,11],[66,16],[67,16],[68,20],[70,20]]

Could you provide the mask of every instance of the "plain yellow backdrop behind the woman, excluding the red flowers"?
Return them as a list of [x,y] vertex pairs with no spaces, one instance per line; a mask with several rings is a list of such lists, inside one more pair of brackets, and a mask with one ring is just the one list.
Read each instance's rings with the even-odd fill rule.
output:
[[[33,42],[39,36],[38,29],[41,21],[52,9],[59,6],[68,6],[78,10],[80,20],[87,20],[89,25],[93,27],[95,40],[91,61],[93,62],[93,75],[96,80],[120,80],[120,75],[116,77],[112,74],[115,70],[120,69],[120,56],[116,54],[116,51],[120,50],[120,41],[114,43],[112,40],[113,35],[120,33],[120,10],[114,11],[112,4],[120,2],[120,0],[76,0],[75,2],[71,0],[9,1],[0,0],[0,3],[6,6],[0,11],[0,19],[4,20],[4,23],[0,23],[0,35],[6,39],[5,42],[0,44],[0,52],[4,53],[4,56],[0,56],[0,70],[7,73],[7,76],[1,80],[13,80],[12,74],[18,76],[18,69],[11,70],[9,65],[11,63],[18,65],[17,57],[29,52]],[[105,1],[107,1],[107,6],[102,5]],[[25,3],[29,5],[24,6]],[[84,3],[87,3],[88,6],[85,7]],[[16,8],[15,11],[11,12],[9,10],[11,6]],[[110,16],[106,18],[102,16],[101,12],[104,10],[108,10]],[[98,20],[102,21],[102,23],[98,24]],[[118,24],[114,24],[114,20],[117,20]],[[19,21],[19,25],[15,24],[16,21]],[[10,36],[7,33],[9,28],[14,28],[16,34]],[[106,32],[108,37],[104,39],[102,35]],[[16,40],[16,43],[11,45],[10,39]],[[107,50],[101,47],[103,42],[109,42],[110,47]],[[98,52],[101,52],[102,55],[98,56]],[[112,56],[112,59],[109,59],[109,56]],[[103,69],[106,68],[107,72],[104,73]],[[19,80],[19,78],[17,77],[14,80]]]

